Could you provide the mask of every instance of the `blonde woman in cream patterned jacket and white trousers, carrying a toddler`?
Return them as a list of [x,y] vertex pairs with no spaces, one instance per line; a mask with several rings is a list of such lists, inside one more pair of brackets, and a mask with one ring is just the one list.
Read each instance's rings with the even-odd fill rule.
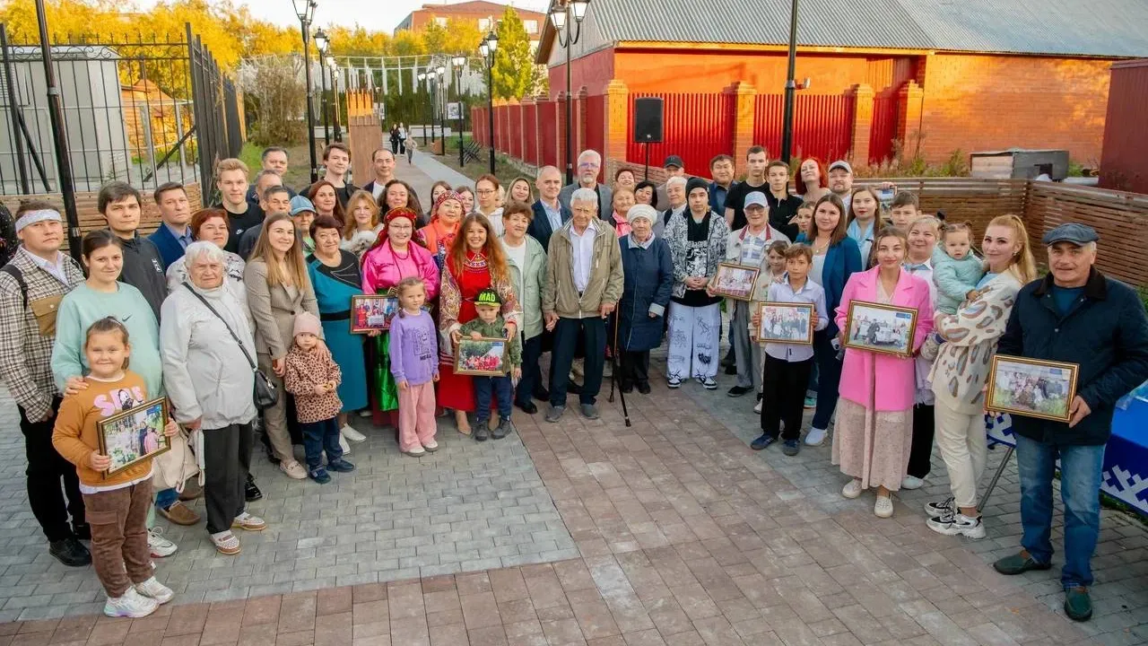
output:
[[977,512],[977,482],[987,460],[984,387],[990,362],[984,357],[996,352],[1017,292],[1037,278],[1029,232],[1019,217],[993,218],[980,249],[987,272],[977,284],[977,294],[961,303],[956,314],[937,317],[937,334],[944,343],[929,375],[936,398],[936,441],[952,495],[925,505],[926,524],[938,533],[969,538],[985,536]]

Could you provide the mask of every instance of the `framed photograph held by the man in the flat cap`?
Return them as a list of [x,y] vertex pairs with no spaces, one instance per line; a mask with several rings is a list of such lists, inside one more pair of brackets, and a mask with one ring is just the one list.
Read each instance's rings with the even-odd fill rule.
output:
[[1080,367],[1007,354],[993,355],[985,408],[1068,422]]

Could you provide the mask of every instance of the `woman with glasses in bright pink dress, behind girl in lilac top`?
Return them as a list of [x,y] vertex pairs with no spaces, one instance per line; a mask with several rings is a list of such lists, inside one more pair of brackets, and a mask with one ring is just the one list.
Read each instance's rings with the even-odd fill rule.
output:
[[[386,294],[410,276],[422,278],[427,305],[439,294],[439,266],[430,252],[411,241],[418,214],[409,208],[387,212],[374,246],[363,254],[363,293]],[[382,333],[370,346],[367,371],[371,414],[377,424],[397,425],[398,389],[390,375],[390,336]]]

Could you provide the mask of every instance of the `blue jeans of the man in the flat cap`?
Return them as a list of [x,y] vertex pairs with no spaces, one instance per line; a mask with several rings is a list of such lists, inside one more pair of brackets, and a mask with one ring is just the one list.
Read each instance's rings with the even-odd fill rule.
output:
[[1092,585],[1092,553],[1100,533],[1100,470],[1104,445],[1079,446],[1042,443],[1016,436],[1016,466],[1021,471],[1021,545],[1033,559],[1053,557],[1053,476],[1061,460],[1061,500],[1064,502],[1064,589]]

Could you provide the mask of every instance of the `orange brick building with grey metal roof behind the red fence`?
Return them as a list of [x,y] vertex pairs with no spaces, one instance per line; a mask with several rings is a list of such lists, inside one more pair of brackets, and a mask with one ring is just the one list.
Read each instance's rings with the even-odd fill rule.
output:
[[[783,92],[789,13],[789,0],[592,0],[572,86],[590,97],[611,83],[631,97],[737,94],[731,118],[757,121],[760,134],[774,113],[746,117],[737,101]],[[1019,146],[1066,148],[1095,166],[1109,68],[1148,55],[1148,2],[801,0],[798,45],[797,78],[810,80],[799,120],[812,95],[845,97],[822,118],[853,122],[839,140],[854,160],[879,160],[895,139],[931,162]],[[566,52],[549,23],[536,60],[564,92]]]

